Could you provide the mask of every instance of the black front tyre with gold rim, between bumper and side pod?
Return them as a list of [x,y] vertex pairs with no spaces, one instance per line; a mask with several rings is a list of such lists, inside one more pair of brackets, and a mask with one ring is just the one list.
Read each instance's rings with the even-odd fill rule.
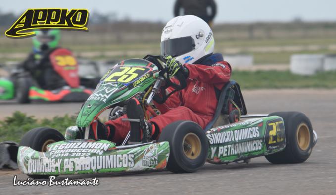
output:
[[[188,140],[195,144],[188,144]],[[208,138],[203,129],[192,121],[180,120],[169,124],[162,130],[159,142],[162,141],[169,142],[167,169],[173,173],[194,172],[204,165],[208,156]]]

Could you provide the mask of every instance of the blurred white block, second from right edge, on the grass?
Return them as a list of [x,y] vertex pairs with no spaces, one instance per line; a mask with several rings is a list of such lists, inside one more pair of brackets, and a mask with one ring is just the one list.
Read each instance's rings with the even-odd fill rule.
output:
[[298,75],[313,75],[323,71],[324,55],[320,54],[298,54],[292,55],[290,59],[290,71]]

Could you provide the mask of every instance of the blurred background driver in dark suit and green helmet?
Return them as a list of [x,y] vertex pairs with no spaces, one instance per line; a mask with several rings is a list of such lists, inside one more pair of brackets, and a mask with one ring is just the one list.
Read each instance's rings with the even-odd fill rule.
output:
[[64,80],[53,70],[49,54],[58,48],[59,30],[35,31],[33,37],[33,52],[18,66],[30,73],[40,87],[56,89],[64,86]]

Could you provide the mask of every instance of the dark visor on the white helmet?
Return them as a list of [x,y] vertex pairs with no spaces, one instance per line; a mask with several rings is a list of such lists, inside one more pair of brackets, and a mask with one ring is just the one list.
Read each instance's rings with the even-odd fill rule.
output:
[[176,57],[192,51],[194,47],[195,42],[190,36],[168,39],[161,42],[161,55]]

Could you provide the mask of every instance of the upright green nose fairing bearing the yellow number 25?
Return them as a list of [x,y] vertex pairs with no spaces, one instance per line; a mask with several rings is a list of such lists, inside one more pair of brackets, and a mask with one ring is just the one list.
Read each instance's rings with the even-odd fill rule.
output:
[[[122,68],[124,69],[122,69]],[[125,67],[129,70],[125,69]],[[132,69],[145,69],[136,73]],[[123,70],[126,70],[123,73]],[[114,78],[127,80],[128,82],[110,81],[108,78],[115,74]],[[76,123],[78,127],[87,127],[102,111],[118,102],[128,100],[148,88],[158,76],[157,67],[149,61],[142,59],[130,59],[118,63],[103,76],[95,91],[80,110]]]

